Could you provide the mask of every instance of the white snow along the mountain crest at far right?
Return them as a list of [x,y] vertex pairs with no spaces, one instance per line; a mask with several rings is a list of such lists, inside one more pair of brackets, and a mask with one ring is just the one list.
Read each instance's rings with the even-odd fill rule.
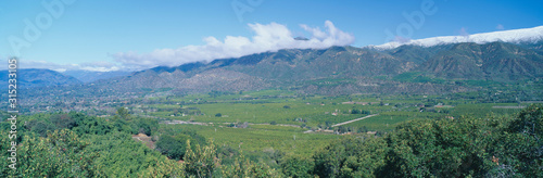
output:
[[409,40],[406,42],[392,41],[383,43],[380,46],[368,46],[368,48],[374,48],[378,50],[388,50],[397,48],[404,44],[421,46],[421,47],[432,47],[439,44],[447,43],[459,43],[459,42],[476,42],[476,43],[488,43],[494,41],[504,42],[538,42],[543,40],[543,26],[538,26],[533,28],[522,28],[522,29],[512,29],[502,30],[493,33],[473,34],[467,36],[443,36],[443,37],[432,37],[417,40]]

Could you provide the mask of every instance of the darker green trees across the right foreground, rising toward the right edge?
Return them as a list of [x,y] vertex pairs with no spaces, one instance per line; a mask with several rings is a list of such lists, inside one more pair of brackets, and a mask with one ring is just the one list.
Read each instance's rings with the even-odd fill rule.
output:
[[[318,151],[294,177],[543,177],[543,109],[515,118],[414,120]],[[288,174],[289,175],[289,174]]]

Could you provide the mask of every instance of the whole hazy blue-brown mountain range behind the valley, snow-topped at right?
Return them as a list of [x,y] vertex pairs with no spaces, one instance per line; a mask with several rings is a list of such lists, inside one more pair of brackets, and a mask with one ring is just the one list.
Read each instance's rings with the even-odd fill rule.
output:
[[[187,93],[266,88],[325,94],[458,92],[470,90],[455,85],[458,80],[507,84],[543,78],[542,31],[543,26],[471,35],[469,39],[473,42],[437,37],[397,47],[287,49],[135,73],[61,74],[47,69],[20,73],[22,85],[27,87],[92,85],[97,90],[118,92],[167,89]],[[497,41],[485,42],[490,39]],[[413,80],[416,82],[397,79],[404,76],[424,79]],[[433,82],[437,80],[440,82]]]

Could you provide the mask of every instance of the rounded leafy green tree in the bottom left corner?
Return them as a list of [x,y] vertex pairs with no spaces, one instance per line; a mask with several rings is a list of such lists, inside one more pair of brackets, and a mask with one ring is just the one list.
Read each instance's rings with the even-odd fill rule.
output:
[[[99,174],[92,164],[98,154],[85,152],[89,143],[71,130],[50,131],[47,138],[30,134],[23,140],[17,147],[17,169],[11,173],[14,177],[94,177]],[[9,148],[2,145],[1,149]],[[8,160],[5,154],[2,160]],[[1,173],[2,177],[11,177],[8,174]]]

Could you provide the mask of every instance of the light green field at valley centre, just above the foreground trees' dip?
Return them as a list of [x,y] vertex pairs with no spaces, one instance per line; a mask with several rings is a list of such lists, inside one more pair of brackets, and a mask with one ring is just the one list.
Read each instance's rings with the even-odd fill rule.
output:
[[250,152],[280,150],[303,156],[310,156],[331,140],[341,137],[339,135],[304,134],[305,129],[302,128],[272,125],[251,125],[249,128],[197,125],[168,125],[166,127],[197,130],[199,135],[213,140],[217,145],[229,145]]

